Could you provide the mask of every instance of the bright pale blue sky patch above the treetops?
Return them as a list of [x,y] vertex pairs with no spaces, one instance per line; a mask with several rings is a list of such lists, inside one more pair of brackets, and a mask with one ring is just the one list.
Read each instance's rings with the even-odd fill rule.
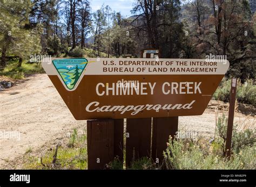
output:
[[102,4],[109,5],[113,11],[121,12],[123,17],[130,17],[132,14],[130,10],[133,8],[133,3],[136,0],[90,0],[92,12],[100,9]]

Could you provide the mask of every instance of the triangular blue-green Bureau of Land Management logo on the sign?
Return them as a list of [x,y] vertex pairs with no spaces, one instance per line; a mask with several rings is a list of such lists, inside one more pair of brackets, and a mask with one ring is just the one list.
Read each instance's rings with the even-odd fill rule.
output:
[[88,61],[85,58],[55,59],[52,63],[61,77],[60,81],[62,81],[69,90],[74,90],[76,85],[79,84],[80,77]]

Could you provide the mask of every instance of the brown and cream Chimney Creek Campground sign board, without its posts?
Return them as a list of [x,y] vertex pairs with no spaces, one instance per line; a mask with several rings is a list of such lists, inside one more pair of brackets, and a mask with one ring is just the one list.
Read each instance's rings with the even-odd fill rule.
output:
[[56,58],[43,63],[77,120],[200,115],[229,62]]

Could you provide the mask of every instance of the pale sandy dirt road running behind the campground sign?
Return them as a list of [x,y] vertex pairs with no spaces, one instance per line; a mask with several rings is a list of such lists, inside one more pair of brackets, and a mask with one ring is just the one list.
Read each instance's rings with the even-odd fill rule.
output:
[[[29,149],[40,149],[48,142],[67,136],[73,128],[86,127],[85,121],[73,118],[47,75],[33,75],[27,79],[0,92],[0,169],[8,168],[9,161]],[[239,115],[235,121],[255,125],[253,117],[245,118]],[[180,117],[179,124],[179,129],[213,136],[215,113],[206,110],[202,116]],[[10,132],[20,133],[20,136],[14,133],[11,138]]]

